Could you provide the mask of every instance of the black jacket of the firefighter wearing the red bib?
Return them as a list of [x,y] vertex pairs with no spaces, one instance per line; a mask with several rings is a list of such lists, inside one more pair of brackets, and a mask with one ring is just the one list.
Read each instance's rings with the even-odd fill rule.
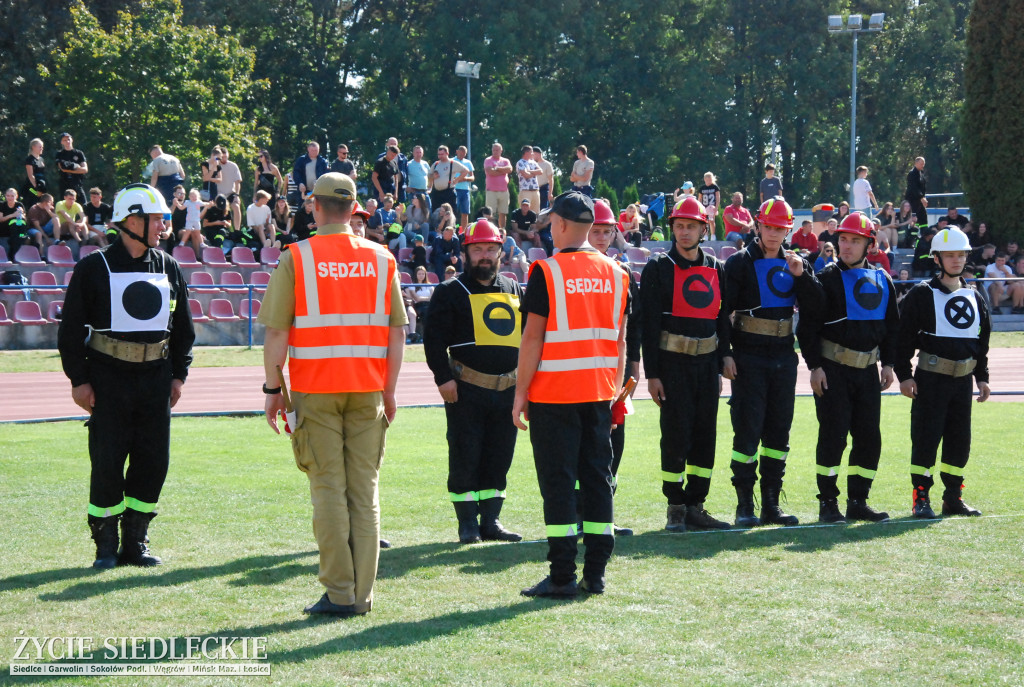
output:
[[[673,313],[674,304],[678,304],[681,294],[676,289],[676,266],[684,270],[691,267],[708,267],[718,273],[718,286],[725,289],[725,267],[721,260],[708,255],[699,248],[697,259],[690,262],[676,250],[673,243],[668,253],[658,253],[651,257],[640,275],[640,310],[642,329],[640,343],[643,348],[643,367],[647,379],[660,377],[658,363],[663,351],[660,349],[662,332],[681,334],[696,339],[707,339],[718,335],[718,363],[721,371],[724,352],[729,350],[729,313],[720,307],[713,318],[677,316]],[[700,294],[702,295],[702,294]],[[722,304],[724,305],[724,295]],[[699,304],[699,301],[698,301]]]

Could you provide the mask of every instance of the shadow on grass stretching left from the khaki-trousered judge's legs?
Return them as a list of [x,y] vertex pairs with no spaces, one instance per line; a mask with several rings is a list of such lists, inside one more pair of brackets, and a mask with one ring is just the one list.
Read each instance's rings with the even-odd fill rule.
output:
[[[239,558],[233,561],[228,561],[226,563],[221,563],[220,565],[207,565],[202,567],[190,567],[190,568],[165,568],[161,572],[151,573],[148,570],[138,570],[138,574],[125,577],[125,576],[103,576],[102,578],[91,579],[89,582],[79,583],[77,585],[72,585],[67,589],[63,589],[54,594],[41,594],[39,599],[41,601],[77,601],[80,599],[87,599],[94,596],[99,596],[102,594],[108,594],[110,592],[120,592],[127,589],[134,589],[137,587],[174,587],[175,585],[185,585],[188,583],[196,582],[198,579],[207,579],[210,577],[220,577],[223,575],[233,575],[243,573],[250,579],[256,579],[258,582],[239,582],[237,584],[261,584],[261,585],[271,585],[279,582],[283,582],[287,577],[295,576],[298,574],[308,574],[312,569],[315,571],[315,566],[310,568],[308,565],[292,564],[281,566],[282,570],[279,572],[278,566],[280,563],[287,561],[293,561],[298,558],[306,558],[308,556],[315,556],[315,551],[304,551],[300,553],[290,553],[290,554],[280,554],[273,556],[249,556],[247,558]],[[73,568],[75,569],[75,568]],[[160,568],[157,568],[160,569]],[[91,573],[91,568],[86,568]],[[52,570],[51,572],[71,572],[71,570]],[[46,573],[41,573],[45,575]],[[263,576],[266,576],[264,582]],[[74,578],[78,575],[69,575],[63,578]],[[18,575],[22,578],[34,578],[35,575]],[[60,579],[59,575],[54,575],[54,579]],[[6,582],[6,581],[3,581]],[[53,582],[53,579],[51,579]],[[2,585],[2,583],[0,583]],[[32,585],[35,586],[35,585]],[[0,589],[3,589],[0,586]]]

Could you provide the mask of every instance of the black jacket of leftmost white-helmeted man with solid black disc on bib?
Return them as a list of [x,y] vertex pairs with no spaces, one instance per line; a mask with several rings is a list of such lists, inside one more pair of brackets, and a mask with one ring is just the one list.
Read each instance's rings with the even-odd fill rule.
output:
[[[131,241],[129,239],[128,241]],[[102,255],[100,255],[102,253]],[[103,264],[103,257],[106,264]],[[152,362],[123,362],[100,353],[86,345],[90,327],[106,330],[111,327],[111,282],[106,270],[112,272],[148,272],[167,274],[171,291],[171,316],[163,332],[104,332],[108,336],[137,343],[157,343],[168,338],[170,350],[168,358],[171,375],[184,381],[191,364],[191,346],[196,340],[191,312],[188,309],[188,290],[185,275],[177,261],[164,253],[150,249],[142,257],[133,258],[125,248],[122,239],[116,240],[102,251],[96,251],[82,258],[72,274],[65,294],[60,330],[57,334],[57,348],[65,374],[72,386],[80,386],[89,381],[89,363],[101,359],[113,364],[125,366],[126,371],[139,364],[162,364],[162,360]]]

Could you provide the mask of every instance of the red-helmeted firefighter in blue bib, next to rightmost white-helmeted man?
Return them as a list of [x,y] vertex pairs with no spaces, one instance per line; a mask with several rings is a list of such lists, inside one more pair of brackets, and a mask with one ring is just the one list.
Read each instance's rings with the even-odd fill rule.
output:
[[[882,454],[881,391],[893,383],[899,312],[889,274],[867,261],[874,224],[854,212],[837,229],[839,261],[817,275],[816,298],[801,304],[797,337],[818,416],[818,519],[881,522],[888,513],[867,505]],[[882,377],[878,362],[882,360]],[[846,437],[853,439],[847,474],[846,517],[839,509],[839,476]]]

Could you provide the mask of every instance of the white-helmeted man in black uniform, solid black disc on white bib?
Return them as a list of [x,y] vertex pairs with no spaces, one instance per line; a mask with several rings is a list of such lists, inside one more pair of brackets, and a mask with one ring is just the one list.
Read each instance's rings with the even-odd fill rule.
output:
[[156,188],[121,189],[113,216],[120,238],[75,266],[65,298],[57,344],[72,397],[91,416],[88,521],[97,568],[161,562],[146,547],[148,525],[196,338],[185,276],[153,250],[170,216]]

